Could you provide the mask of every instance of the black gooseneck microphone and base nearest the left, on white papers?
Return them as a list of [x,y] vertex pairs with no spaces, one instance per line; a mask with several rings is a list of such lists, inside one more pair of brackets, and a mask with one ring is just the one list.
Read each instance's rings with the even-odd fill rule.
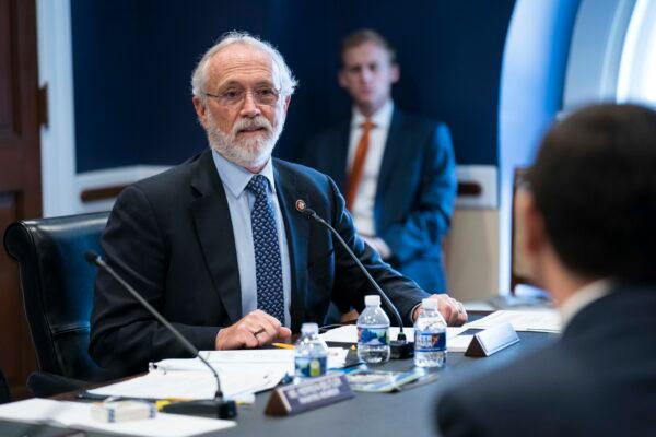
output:
[[198,350],[194,347],[194,345],[187,339],[185,339],[180,331],[175,329],[175,327],[171,324],[168,320],[164,318],[164,316],[162,316],[155,308],[153,308],[151,304],[149,304],[143,297],[141,297],[141,295],[137,293],[137,291],[132,288],[130,284],[128,284],[122,277],[120,277],[118,273],[116,273],[114,269],[112,269],[99,255],[97,255],[93,250],[89,250],[84,252],[84,259],[86,259],[86,261],[90,264],[96,265],[99,269],[103,269],[104,271],[109,273],[120,285],[122,285],[124,288],[126,288],[132,295],[132,297],[134,297],[145,309],[148,309],[149,312],[155,317],[155,319],[157,319],[162,324],[164,324],[166,329],[168,329],[173,333],[173,335],[180,342],[180,344],[191,353],[191,355],[200,359],[201,363],[210,369],[212,375],[214,375],[214,379],[216,380],[216,392],[214,393],[213,400],[175,402],[164,406],[162,411],[165,413],[174,414],[191,414],[208,416],[215,415],[219,418],[235,417],[237,415],[237,406],[235,404],[235,401],[226,401],[223,399],[223,392],[221,391],[221,381],[219,380],[219,374],[216,374],[216,370],[214,370],[210,363],[208,363],[202,356],[200,356]]

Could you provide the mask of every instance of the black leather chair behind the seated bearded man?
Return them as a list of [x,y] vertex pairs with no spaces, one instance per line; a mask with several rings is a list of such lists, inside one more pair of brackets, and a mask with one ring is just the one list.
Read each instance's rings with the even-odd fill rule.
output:
[[102,212],[21,221],[4,233],[4,248],[19,263],[40,370],[27,381],[35,395],[113,378],[87,352],[96,270],[83,257],[86,250],[102,252],[99,237],[107,216]]

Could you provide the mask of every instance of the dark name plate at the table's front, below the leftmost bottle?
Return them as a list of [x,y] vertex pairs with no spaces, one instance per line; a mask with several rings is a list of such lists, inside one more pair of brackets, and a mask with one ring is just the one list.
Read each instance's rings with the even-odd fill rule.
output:
[[265,414],[272,416],[298,414],[354,395],[344,375],[327,375],[277,388],[269,397]]

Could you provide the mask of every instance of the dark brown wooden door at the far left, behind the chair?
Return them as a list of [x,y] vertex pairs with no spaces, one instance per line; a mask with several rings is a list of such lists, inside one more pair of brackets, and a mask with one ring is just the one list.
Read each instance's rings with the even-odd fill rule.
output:
[[[42,214],[34,0],[0,0],[0,231]],[[35,369],[16,264],[0,251],[0,366],[14,399]]]

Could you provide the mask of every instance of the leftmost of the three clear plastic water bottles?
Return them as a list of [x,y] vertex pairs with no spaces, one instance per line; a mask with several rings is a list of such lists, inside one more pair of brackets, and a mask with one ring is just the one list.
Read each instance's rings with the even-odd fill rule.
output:
[[296,376],[303,379],[326,375],[327,359],[328,349],[319,338],[319,327],[317,323],[303,323],[301,339],[294,347]]

